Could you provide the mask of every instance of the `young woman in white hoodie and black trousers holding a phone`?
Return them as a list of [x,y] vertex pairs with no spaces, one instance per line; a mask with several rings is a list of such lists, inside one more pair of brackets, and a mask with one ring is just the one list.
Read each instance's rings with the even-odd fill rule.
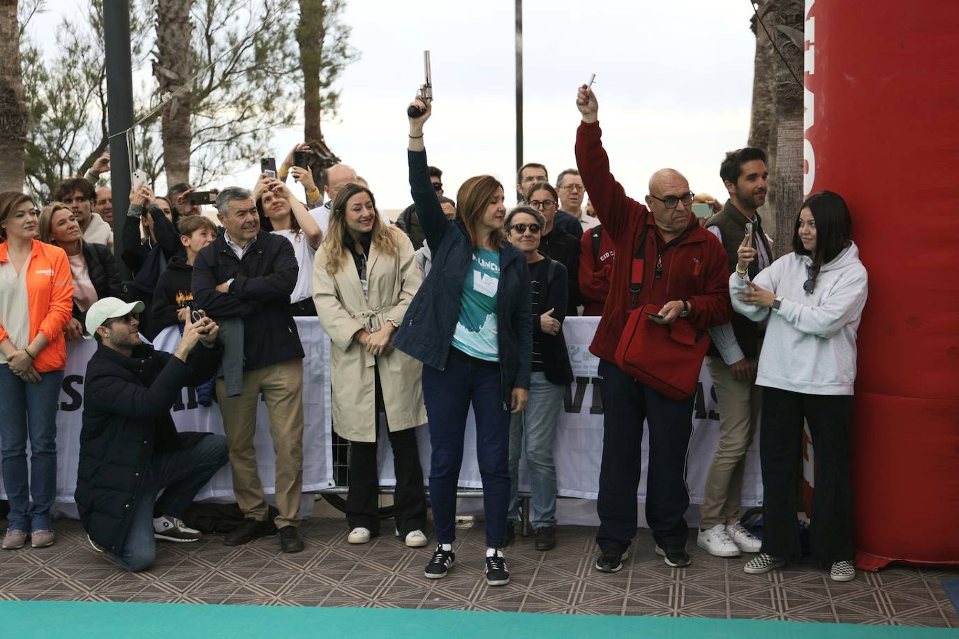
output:
[[796,522],[803,421],[815,449],[810,555],[830,578],[854,579],[849,422],[855,382],[855,331],[866,304],[866,268],[850,240],[846,202],[824,191],[803,202],[793,252],[749,281],[751,237],[730,276],[733,308],[768,319],[756,383],[762,386],[760,460],[763,539],[744,570],[761,574],[800,556]]

